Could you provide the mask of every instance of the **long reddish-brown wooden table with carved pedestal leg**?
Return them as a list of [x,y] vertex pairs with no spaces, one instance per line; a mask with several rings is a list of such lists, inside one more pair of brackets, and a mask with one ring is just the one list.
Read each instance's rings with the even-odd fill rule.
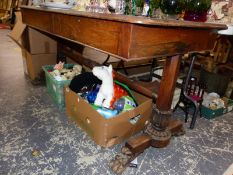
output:
[[[153,139],[161,142],[154,142],[152,146],[155,147],[167,145],[171,137],[167,128],[171,121],[170,109],[180,67],[180,55],[211,50],[216,30],[227,28],[221,24],[28,6],[22,6],[21,11],[23,22],[30,27],[95,48],[125,61],[166,56],[157,95],[137,83],[123,80],[123,83],[126,82],[131,88],[156,101],[156,114],[153,117],[154,123],[152,122],[156,132]],[[169,129],[173,131],[172,127]],[[135,141],[129,142],[132,149],[133,144],[137,145]],[[146,146],[135,146],[134,151],[139,152],[145,148]]]

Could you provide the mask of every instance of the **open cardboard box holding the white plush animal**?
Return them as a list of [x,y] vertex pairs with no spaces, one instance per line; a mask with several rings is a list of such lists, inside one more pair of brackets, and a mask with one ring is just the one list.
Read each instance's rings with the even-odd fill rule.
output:
[[105,119],[75,92],[65,87],[66,113],[96,144],[111,147],[144,129],[152,114],[152,100],[133,92],[139,106]]

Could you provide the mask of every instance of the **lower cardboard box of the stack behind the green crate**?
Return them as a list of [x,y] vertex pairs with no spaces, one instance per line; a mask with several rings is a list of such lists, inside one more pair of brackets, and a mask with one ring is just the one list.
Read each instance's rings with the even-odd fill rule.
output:
[[27,74],[30,79],[35,80],[43,73],[43,65],[56,63],[57,54],[31,54],[25,49],[22,49],[22,59],[25,74]]

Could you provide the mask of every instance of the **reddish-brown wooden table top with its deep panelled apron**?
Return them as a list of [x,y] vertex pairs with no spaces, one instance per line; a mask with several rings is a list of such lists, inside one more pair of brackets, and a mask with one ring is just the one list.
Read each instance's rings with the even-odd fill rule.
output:
[[223,24],[22,6],[23,22],[125,61],[213,48]]

